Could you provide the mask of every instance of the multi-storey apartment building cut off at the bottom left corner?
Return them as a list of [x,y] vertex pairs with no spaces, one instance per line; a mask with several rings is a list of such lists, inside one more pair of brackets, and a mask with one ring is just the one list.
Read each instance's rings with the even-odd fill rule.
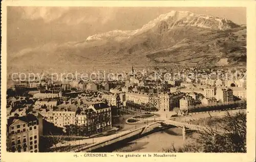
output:
[[9,118],[7,120],[7,151],[38,152],[40,127],[42,123],[39,123],[32,114]]

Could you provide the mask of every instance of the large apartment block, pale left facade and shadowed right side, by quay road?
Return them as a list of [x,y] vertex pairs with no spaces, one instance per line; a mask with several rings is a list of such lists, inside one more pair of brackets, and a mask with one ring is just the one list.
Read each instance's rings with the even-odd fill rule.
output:
[[44,114],[44,119],[62,128],[67,134],[80,136],[102,132],[112,128],[111,107],[106,103],[95,103],[77,112],[76,106],[59,107]]

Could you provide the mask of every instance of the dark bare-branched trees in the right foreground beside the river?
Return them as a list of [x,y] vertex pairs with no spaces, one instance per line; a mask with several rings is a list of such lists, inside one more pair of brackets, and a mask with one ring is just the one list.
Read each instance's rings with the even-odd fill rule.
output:
[[209,121],[207,128],[198,132],[194,143],[182,148],[172,148],[166,152],[246,152],[246,113],[235,115],[228,112],[215,122]]

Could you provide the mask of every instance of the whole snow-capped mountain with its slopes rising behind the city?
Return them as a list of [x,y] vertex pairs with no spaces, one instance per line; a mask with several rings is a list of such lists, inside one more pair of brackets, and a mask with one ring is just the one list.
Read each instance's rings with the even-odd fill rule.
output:
[[246,26],[172,11],[134,31],[99,33],[80,42],[46,44],[8,56],[8,69],[117,66],[246,66]]

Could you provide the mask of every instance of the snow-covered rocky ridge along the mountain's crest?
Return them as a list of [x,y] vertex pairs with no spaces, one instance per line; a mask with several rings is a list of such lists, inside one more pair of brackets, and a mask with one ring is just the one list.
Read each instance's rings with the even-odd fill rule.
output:
[[233,23],[226,18],[199,15],[191,13],[188,11],[171,11],[166,14],[158,16],[156,19],[148,22],[143,25],[141,29],[132,30],[132,31],[110,31],[106,33],[98,33],[93,36],[89,36],[86,40],[104,40],[104,39],[113,39],[113,40],[123,40],[130,38],[131,36],[141,34],[148,30],[155,28],[159,23],[167,22],[168,30],[174,29],[180,26],[195,26],[198,28],[212,29],[212,30],[228,30],[236,28],[239,25]]

